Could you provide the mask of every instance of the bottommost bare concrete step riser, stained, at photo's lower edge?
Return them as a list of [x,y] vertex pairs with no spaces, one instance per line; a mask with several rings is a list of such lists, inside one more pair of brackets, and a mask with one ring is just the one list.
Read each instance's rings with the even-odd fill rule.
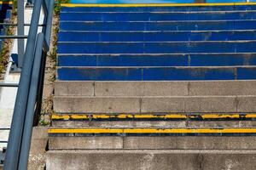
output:
[[46,169],[248,170],[255,159],[254,150],[49,150]]

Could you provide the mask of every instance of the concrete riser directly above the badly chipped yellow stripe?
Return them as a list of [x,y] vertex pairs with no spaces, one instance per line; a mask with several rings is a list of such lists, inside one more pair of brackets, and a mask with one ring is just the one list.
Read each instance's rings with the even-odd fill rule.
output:
[[56,113],[254,113],[255,96],[55,96]]

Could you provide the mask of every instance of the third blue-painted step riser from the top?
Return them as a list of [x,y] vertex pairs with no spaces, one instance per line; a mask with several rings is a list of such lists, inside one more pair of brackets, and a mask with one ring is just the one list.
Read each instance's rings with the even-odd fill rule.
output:
[[60,22],[60,31],[233,31],[255,29],[256,20],[170,22]]

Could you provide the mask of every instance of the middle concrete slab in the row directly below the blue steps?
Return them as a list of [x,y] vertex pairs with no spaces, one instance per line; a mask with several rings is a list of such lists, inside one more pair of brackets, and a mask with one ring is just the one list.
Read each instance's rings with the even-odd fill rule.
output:
[[96,96],[186,96],[189,82],[96,82]]

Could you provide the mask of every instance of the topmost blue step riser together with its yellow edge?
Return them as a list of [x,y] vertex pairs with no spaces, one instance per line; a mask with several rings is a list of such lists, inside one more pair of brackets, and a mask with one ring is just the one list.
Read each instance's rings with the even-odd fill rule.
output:
[[[143,2],[144,3],[144,2]],[[147,2],[148,3],[148,2]],[[154,2],[155,3],[155,2]],[[227,4],[227,3],[226,3]],[[112,7],[109,5],[106,5],[104,8],[100,7],[99,5],[73,5],[72,8],[70,6],[62,4],[61,7],[61,12],[63,13],[70,13],[70,12],[82,12],[82,13],[102,13],[102,12],[215,12],[215,11],[222,11],[222,12],[229,12],[229,11],[249,11],[249,10],[255,10],[256,5],[253,5],[250,3],[244,3],[244,4],[238,4],[234,5],[234,3],[230,3],[227,5],[216,5],[216,4],[207,4],[201,5],[201,4],[196,4],[196,5],[191,5],[189,3],[186,4],[152,4],[151,6],[148,6],[148,4],[141,4],[140,6],[134,6],[134,7],[125,7],[121,5],[116,5],[114,7],[114,4]]]

